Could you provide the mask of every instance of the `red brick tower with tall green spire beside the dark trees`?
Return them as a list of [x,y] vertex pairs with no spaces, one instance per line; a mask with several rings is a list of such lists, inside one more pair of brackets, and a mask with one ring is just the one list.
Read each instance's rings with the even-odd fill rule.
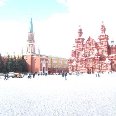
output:
[[33,33],[32,19],[30,22],[30,31],[28,32],[27,50],[24,58],[28,65],[29,72],[48,73],[48,58],[47,56],[37,54],[35,52],[35,40]]

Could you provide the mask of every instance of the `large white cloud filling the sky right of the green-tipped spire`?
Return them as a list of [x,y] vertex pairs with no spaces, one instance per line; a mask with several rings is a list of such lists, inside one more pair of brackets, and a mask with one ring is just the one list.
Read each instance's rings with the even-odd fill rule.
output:
[[[114,0],[57,0],[68,7],[68,12],[57,13],[41,22],[38,44],[41,52],[58,56],[70,56],[78,26],[83,29],[83,37],[98,40],[101,22],[106,25],[110,40],[115,38],[116,10]],[[110,7],[111,6],[111,7]]]

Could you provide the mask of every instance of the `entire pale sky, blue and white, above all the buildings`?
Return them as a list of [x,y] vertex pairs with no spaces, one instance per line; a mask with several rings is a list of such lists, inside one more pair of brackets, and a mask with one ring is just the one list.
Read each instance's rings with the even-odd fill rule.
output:
[[32,18],[36,51],[69,58],[79,25],[98,41],[103,21],[115,41],[115,11],[115,0],[0,0],[0,53],[25,52]]

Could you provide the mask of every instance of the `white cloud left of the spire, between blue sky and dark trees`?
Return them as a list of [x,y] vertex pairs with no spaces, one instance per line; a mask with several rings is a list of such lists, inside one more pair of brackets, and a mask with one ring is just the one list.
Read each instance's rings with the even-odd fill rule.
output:
[[21,53],[26,47],[27,25],[25,22],[1,21],[0,22],[0,53]]

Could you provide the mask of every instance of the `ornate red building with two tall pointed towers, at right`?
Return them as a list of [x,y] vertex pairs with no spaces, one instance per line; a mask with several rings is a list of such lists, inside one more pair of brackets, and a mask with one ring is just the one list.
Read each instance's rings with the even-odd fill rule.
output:
[[83,31],[79,28],[68,64],[70,73],[116,71],[116,45],[109,44],[109,36],[103,23],[98,42],[91,37],[85,40]]

